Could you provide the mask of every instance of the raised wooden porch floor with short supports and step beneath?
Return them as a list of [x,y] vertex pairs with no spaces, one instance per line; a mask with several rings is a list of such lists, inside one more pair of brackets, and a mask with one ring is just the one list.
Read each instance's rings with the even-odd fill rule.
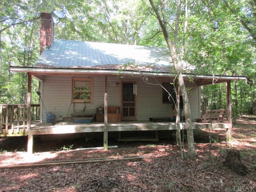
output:
[[[226,130],[227,139],[230,137],[232,124],[230,123],[202,123],[193,122],[193,129],[223,129]],[[177,130],[175,122],[154,122],[154,121],[132,121],[132,122],[112,122],[105,125],[102,122],[91,122],[91,123],[46,123],[40,121],[31,121],[30,128],[27,127],[27,121],[22,129],[19,129],[16,124],[12,129],[2,129],[0,136],[28,136],[28,152],[33,153],[34,136],[40,135],[57,135],[57,134],[74,134],[74,133],[103,133],[103,144],[104,149],[108,149],[108,134],[109,132],[117,132],[118,141],[154,141],[158,142],[158,132],[164,130]],[[186,130],[186,124],[180,123],[180,129]],[[151,131],[153,136],[143,138],[124,138],[122,132],[139,132],[139,131]]]

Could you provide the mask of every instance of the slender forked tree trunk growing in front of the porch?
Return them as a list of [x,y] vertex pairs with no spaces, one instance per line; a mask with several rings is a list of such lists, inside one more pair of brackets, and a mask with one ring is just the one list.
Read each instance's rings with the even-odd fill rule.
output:
[[[178,86],[180,88],[180,92],[182,94],[182,99],[184,104],[184,115],[186,119],[187,139],[188,139],[188,156],[193,157],[196,154],[195,147],[194,147],[194,134],[193,134],[191,114],[190,114],[188,93],[187,93],[185,82],[182,76],[182,70],[184,69],[183,64],[185,63],[184,37],[186,36],[187,19],[188,19],[187,0],[183,5],[183,9],[185,10],[185,17],[183,18],[184,19],[183,26],[181,26],[182,19],[180,18],[181,11],[182,11],[181,0],[179,0],[177,5],[174,6],[176,7],[175,9],[176,12],[172,13],[172,15],[168,15],[168,17],[166,17],[166,13],[168,13],[168,8],[173,7],[171,6],[171,4],[167,4],[166,2],[163,2],[162,0],[160,0],[159,5],[156,6],[153,0],[149,0],[149,1],[152,6],[152,9],[154,10],[155,16],[160,24],[160,27],[162,29],[164,39],[166,41],[166,44],[170,51],[170,55],[172,57],[172,62],[174,64],[175,72],[178,79]],[[167,20],[167,18],[172,18],[172,20]],[[169,35],[170,32],[168,31],[168,28],[172,25],[174,26],[174,30],[172,31],[172,40],[171,40]],[[180,30],[182,28],[183,30]],[[181,38],[181,40],[179,40],[179,38]],[[178,41],[182,43],[178,45]],[[178,48],[180,48],[180,50]],[[178,54],[180,55],[180,57],[178,57]]]

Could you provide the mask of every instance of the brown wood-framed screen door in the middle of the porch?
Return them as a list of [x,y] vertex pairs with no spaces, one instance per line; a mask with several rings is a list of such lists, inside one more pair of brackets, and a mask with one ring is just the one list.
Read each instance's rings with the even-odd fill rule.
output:
[[122,120],[137,120],[137,84],[135,81],[122,82]]

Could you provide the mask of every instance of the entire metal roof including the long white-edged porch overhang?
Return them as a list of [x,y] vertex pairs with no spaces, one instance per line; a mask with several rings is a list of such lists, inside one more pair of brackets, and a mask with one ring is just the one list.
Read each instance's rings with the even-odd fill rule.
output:
[[[126,68],[122,68],[126,64]],[[195,75],[193,66],[183,65],[184,78],[194,77],[198,85],[246,80],[244,76]],[[116,74],[170,77],[176,76],[170,69],[172,59],[167,48],[110,44],[99,42],[82,42],[54,39],[50,49],[44,50],[33,67],[11,66],[14,72],[40,74]],[[38,79],[42,77],[37,77]],[[42,79],[40,79],[42,80]]]

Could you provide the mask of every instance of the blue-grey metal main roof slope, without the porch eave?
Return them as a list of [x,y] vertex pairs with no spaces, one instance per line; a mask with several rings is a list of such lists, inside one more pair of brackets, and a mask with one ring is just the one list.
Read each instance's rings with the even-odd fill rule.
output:
[[126,64],[133,64],[126,70],[170,72],[172,59],[167,48],[54,39],[34,67],[120,70]]

